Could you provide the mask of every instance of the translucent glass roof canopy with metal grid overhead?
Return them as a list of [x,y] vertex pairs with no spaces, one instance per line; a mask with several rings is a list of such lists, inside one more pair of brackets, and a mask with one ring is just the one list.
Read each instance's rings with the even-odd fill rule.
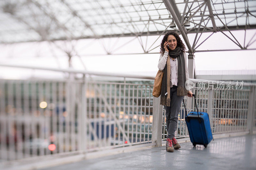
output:
[[[256,27],[256,1],[210,2],[217,28]],[[206,1],[188,0],[186,9],[186,0],[175,3],[178,18],[189,19],[187,33],[196,32],[203,14],[201,29],[213,31]],[[0,6],[1,43],[154,35],[172,22],[160,0],[2,0]]]

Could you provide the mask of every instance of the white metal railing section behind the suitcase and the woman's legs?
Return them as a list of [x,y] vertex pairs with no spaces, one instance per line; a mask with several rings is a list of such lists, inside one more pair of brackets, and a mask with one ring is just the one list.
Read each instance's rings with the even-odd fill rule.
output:
[[[204,88],[194,87],[191,91],[196,95],[196,104],[200,112],[207,112],[211,122],[212,134],[223,134],[232,132],[253,133],[256,127],[255,110],[255,84],[243,83],[244,88],[216,88],[216,84],[230,85],[229,81],[212,81],[190,79],[194,83],[208,82],[212,86]],[[214,86],[215,85],[215,86]],[[222,86],[224,87],[224,86]],[[193,98],[184,96],[188,113],[196,111]],[[159,107],[159,114],[162,116],[162,140],[166,139],[167,128],[165,125],[165,110]],[[177,130],[175,137],[177,139],[188,140],[189,137],[185,123],[185,109],[183,103],[178,117]],[[160,123],[160,122],[159,122]]]

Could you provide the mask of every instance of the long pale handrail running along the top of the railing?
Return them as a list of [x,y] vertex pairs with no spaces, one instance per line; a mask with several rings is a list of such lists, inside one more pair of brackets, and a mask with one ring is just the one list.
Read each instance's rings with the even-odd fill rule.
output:
[[[75,70],[75,69],[56,69],[56,68],[47,68],[47,67],[36,67],[36,66],[24,66],[24,65],[12,65],[12,64],[0,64],[0,67],[14,67],[14,68],[24,68],[24,69],[36,69],[36,70],[49,70],[49,71],[58,71],[58,72],[68,72],[68,73],[81,73],[81,74],[90,74],[95,76],[109,76],[109,77],[122,77],[122,78],[140,78],[154,80],[153,76],[143,76],[143,75],[133,75],[133,74],[123,74],[123,73],[107,73],[107,72],[98,72],[98,71],[87,71],[87,70]],[[193,83],[198,82],[210,82],[212,84],[222,83],[230,84],[229,81],[218,81],[218,80],[203,80],[203,79],[192,79],[189,78]],[[256,86],[253,83],[243,83],[243,86]]]

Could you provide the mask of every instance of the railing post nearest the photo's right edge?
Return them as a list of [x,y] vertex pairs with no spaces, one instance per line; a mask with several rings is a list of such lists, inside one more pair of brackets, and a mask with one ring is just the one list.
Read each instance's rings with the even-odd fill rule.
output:
[[255,111],[255,87],[250,87],[250,95],[249,95],[249,102],[248,102],[248,115],[247,115],[247,130],[249,130],[249,133],[253,133],[253,121],[254,121],[254,111]]

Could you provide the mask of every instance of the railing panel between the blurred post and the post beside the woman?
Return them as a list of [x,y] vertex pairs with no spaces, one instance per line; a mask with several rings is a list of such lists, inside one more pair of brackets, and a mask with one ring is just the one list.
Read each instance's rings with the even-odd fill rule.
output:
[[152,85],[89,82],[86,89],[87,129],[92,136],[87,140],[88,148],[151,142]]

